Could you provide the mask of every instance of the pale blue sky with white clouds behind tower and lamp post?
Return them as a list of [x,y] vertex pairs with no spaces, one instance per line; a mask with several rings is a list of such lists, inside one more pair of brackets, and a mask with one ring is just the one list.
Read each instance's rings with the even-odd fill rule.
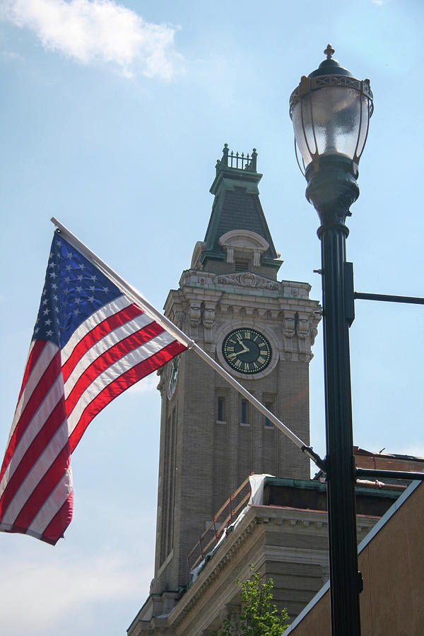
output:
[[[288,98],[328,42],[375,113],[348,220],[358,291],[423,295],[420,1],[1,0],[1,453],[56,216],[157,307],[211,211],[223,143],[258,150],[280,278],[321,298],[317,214]],[[424,456],[423,312],[356,302],[355,444]],[[324,454],[321,332],[311,436]],[[160,400],[155,376],[114,401],[73,454],[74,517],[55,548],[0,535],[9,636],[124,634],[153,576]]]

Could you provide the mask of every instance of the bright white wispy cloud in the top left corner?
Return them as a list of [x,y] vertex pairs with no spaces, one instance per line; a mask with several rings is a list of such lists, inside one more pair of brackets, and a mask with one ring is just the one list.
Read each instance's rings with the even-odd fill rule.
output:
[[182,70],[176,28],[148,23],[113,0],[3,0],[0,17],[81,64],[113,64],[128,77],[169,79]]

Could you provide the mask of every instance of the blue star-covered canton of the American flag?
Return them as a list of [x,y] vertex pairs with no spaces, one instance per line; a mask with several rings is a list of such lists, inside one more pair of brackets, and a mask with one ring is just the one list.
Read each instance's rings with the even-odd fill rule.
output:
[[122,291],[109,278],[55,234],[33,340],[63,348],[84,320],[119,296]]

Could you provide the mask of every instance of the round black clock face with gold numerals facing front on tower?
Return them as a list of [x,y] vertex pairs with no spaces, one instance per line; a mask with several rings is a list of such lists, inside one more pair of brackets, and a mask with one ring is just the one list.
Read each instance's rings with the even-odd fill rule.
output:
[[256,329],[234,329],[223,341],[225,362],[240,373],[263,371],[271,362],[271,355],[269,341]]

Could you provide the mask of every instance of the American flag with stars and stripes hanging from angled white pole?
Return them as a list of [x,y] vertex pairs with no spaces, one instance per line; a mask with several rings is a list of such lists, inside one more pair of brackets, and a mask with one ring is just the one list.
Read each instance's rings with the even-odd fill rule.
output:
[[88,424],[186,348],[55,233],[0,471],[0,530],[57,543],[72,519],[71,453]]

